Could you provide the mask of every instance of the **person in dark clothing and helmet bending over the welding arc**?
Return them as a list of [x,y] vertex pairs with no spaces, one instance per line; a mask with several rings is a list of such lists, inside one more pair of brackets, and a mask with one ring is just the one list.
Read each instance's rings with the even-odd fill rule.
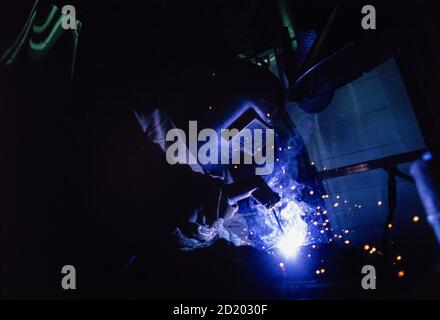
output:
[[[107,229],[102,240],[109,252],[102,254],[112,257],[113,264],[119,261],[119,266],[137,256],[132,268],[143,272],[136,273],[135,282],[146,276],[157,284],[156,293],[163,286],[158,279],[191,279],[194,272],[199,276],[219,272],[200,265],[225,259],[232,251],[245,259],[249,251],[246,254],[227,245],[251,244],[244,231],[249,229],[246,221],[235,215],[237,201],[254,194],[271,207],[279,200],[261,178],[253,178],[253,165],[203,167],[166,161],[164,137],[170,128],[184,127],[189,120],[216,128],[216,122],[228,121],[231,115],[237,119],[246,115],[242,107],[249,103],[258,113],[270,114],[272,124],[281,111],[278,80],[263,68],[220,57],[215,64],[195,62],[191,72],[176,68],[167,74],[167,85],[160,85],[164,94],[157,103],[136,95],[121,100],[104,96],[91,122],[90,205],[94,217],[100,217],[98,226]],[[210,81],[213,73],[216,80]],[[217,255],[205,252],[188,265],[174,265],[181,261],[176,250],[207,247]],[[261,270],[249,266],[246,276]]]

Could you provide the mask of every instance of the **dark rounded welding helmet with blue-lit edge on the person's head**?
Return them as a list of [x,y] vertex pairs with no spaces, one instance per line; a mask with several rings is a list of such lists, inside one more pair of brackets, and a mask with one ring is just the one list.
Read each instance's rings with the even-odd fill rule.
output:
[[198,60],[171,78],[161,107],[184,130],[189,121],[219,135],[222,129],[274,128],[284,112],[281,82],[263,66]]

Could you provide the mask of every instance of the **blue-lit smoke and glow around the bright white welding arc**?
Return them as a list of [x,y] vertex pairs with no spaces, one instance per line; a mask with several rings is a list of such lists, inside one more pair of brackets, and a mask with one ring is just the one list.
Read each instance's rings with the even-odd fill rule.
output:
[[289,136],[277,134],[275,151],[274,172],[263,178],[281,201],[272,210],[251,202],[256,211],[251,228],[256,247],[288,258],[302,246],[328,242],[330,228],[320,188],[298,182],[299,170],[308,166],[301,163],[307,157],[303,156],[306,150],[298,131]]

